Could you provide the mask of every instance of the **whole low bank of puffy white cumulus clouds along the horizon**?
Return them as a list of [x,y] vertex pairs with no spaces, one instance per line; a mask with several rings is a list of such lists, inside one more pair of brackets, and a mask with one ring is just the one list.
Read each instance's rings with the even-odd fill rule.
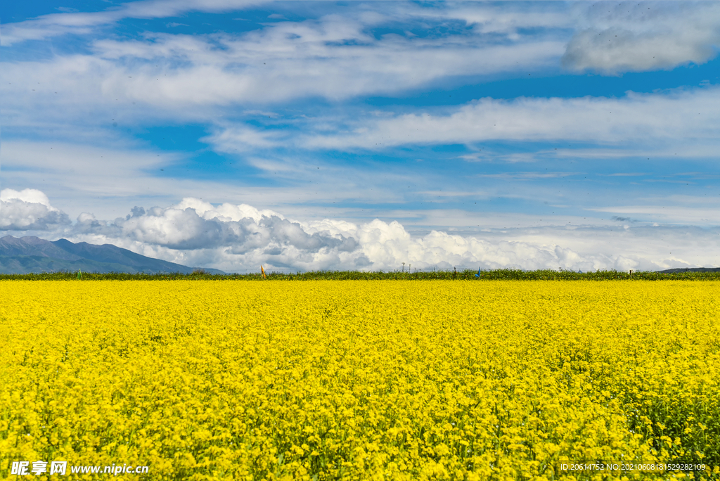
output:
[[[552,235],[545,238],[526,235],[525,240],[518,240],[520,235],[516,239],[483,238],[482,235],[433,230],[418,236],[408,233],[397,221],[376,219],[356,224],[325,219],[299,222],[279,212],[258,210],[247,204],[213,205],[194,198],[183,199],[170,207],[148,210],[135,207],[126,217],[115,220],[97,220],[91,213],[84,212],[77,222],[68,225],[67,215],[50,206],[48,198],[40,191],[7,189],[2,192],[2,199],[0,225],[4,230],[45,230],[45,237],[112,243],[145,256],[228,272],[254,271],[260,264],[270,270],[282,271],[392,270],[403,262],[415,269],[480,267],[582,271],[690,265],[682,256],[663,257],[660,251],[653,250],[652,243],[645,242],[642,252],[632,251],[627,248],[632,242],[628,243],[626,234],[624,246],[617,244],[623,246],[621,251],[603,253],[597,246],[582,251],[559,245],[552,242]],[[568,232],[567,243],[583,245],[577,241],[582,237],[580,230],[573,231],[572,236]],[[597,236],[597,231],[585,233],[585,238]],[[667,236],[666,232],[666,241]],[[618,235],[613,234],[613,237],[618,238]],[[607,240],[602,239],[600,243]],[[584,245],[588,247],[586,241]],[[696,247],[698,251],[704,249],[703,246]]]

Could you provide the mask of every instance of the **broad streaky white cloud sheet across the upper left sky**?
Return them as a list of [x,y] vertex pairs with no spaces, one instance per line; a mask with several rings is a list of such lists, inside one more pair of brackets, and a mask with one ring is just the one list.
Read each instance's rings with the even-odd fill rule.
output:
[[[138,1],[107,12],[52,14],[4,25],[3,42],[23,35],[44,38],[55,35],[55,28],[87,33],[120,17],[161,17],[243,4]],[[19,55],[2,63],[4,125],[49,130],[61,129],[69,120],[86,122],[89,128],[83,130],[93,131],[109,125],[111,117],[120,125],[168,117],[207,121],[223,117],[219,109],[233,104],[278,105],[313,96],[337,101],[392,94],[452,76],[534,71],[557,65],[564,51],[564,37],[544,32],[542,16],[534,35],[518,37],[510,31],[531,28],[531,16],[517,13],[522,18],[513,23],[506,14],[504,27],[490,27],[494,21],[489,18],[467,17],[470,6],[455,13],[393,5],[351,4],[319,19],[274,22],[240,33],[143,32],[136,39],[117,40],[93,32],[87,44],[91,55],[56,54],[42,60],[19,60],[25,58]],[[367,11],[370,8],[378,12]],[[457,18],[451,18],[454,15]],[[432,30],[451,20],[485,27],[431,37],[372,35],[385,24],[420,24]]]

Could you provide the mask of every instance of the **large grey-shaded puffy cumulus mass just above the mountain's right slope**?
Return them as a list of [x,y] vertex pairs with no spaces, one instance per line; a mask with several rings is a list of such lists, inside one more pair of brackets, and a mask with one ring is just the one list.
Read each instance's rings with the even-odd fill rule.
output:
[[143,255],[184,264],[221,265],[230,271],[248,265],[254,269],[258,262],[302,270],[357,267],[358,262],[365,262],[352,238],[310,233],[276,212],[246,204],[212,206],[186,198],[166,208],[135,207],[125,219],[112,222],[98,222],[89,215],[81,215],[78,221],[68,230],[68,238],[115,243]]

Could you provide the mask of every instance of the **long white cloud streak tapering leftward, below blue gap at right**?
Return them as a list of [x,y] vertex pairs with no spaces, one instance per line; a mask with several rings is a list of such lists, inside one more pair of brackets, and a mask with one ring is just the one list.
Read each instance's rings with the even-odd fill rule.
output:
[[[606,97],[480,99],[448,113],[365,117],[352,132],[308,135],[309,148],[386,148],[404,144],[483,140],[701,140],[715,143],[720,129],[720,89]],[[693,146],[693,150],[696,147]]]

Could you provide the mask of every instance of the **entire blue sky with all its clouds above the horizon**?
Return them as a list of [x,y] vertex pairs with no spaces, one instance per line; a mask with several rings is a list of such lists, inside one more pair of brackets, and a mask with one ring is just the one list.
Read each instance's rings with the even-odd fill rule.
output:
[[226,271],[720,265],[716,2],[7,3],[9,235]]

